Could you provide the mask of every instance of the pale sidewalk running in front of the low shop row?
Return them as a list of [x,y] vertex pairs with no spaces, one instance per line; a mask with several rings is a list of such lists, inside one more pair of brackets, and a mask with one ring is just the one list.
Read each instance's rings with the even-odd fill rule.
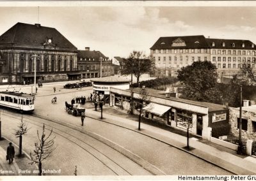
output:
[[[106,110],[107,109],[107,110]],[[106,113],[108,112],[108,113]],[[116,116],[118,115],[118,117]],[[97,112],[93,108],[86,109],[86,116],[94,119],[100,119],[100,110]],[[110,107],[106,107],[103,112],[103,120],[111,124],[131,129],[132,131],[140,132],[159,141],[162,141],[168,145],[188,152],[196,157],[200,157],[205,161],[212,163],[220,168],[223,168],[236,175],[255,175],[256,174],[256,158],[251,156],[239,156],[234,150],[216,145],[207,140],[198,140],[195,137],[189,138],[189,147],[191,150],[187,150],[186,136],[175,134],[170,131],[166,131],[156,126],[150,126],[148,124],[141,123],[141,131],[138,131],[138,118],[137,116],[127,115],[126,113],[115,110]],[[129,118],[129,119],[127,119]]]

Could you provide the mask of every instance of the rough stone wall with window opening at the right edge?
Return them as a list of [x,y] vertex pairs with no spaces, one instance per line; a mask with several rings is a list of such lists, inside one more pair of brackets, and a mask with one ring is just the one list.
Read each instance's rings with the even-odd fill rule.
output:
[[[237,129],[237,118],[239,118],[239,108],[230,108],[229,117],[230,133],[238,138],[239,129]],[[248,120],[247,131],[242,129],[242,139],[256,140],[256,132],[255,128],[253,128],[253,122],[256,122],[256,113],[242,110],[242,119]]]

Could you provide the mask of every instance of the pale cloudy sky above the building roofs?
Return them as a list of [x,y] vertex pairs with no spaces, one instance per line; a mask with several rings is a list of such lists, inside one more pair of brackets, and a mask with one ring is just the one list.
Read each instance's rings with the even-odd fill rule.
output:
[[108,57],[128,57],[133,50],[149,55],[150,47],[161,36],[204,35],[256,43],[255,2],[150,3],[4,4],[0,1],[0,34],[17,22],[39,23],[57,29],[79,50],[90,47]]

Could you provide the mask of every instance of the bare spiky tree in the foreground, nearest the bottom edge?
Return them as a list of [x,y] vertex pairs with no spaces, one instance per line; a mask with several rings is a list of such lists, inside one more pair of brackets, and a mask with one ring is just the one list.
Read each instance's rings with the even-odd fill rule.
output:
[[54,147],[54,139],[56,136],[50,138],[51,136],[52,129],[48,136],[45,135],[45,125],[43,125],[42,135],[39,135],[39,131],[37,130],[39,143],[35,143],[35,150],[33,154],[30,153],[30,159],[31,164],[38,164],[38,175],[42,175],[42,161],[50,157],[52,152],[56,149],[56,147]]

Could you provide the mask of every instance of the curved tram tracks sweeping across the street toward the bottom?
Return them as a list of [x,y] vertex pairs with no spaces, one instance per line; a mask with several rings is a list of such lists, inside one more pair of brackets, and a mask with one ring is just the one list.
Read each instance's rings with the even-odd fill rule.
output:
[[[20,117],[14,116],[13,114],[11,115],[11,114],[6,113],[6,112],[2,113],[2,115],[6,115],[8,117],[12,117],[13,119],[19,119],[20,120]],[[33,115],[33,116],[36,117],[35,115]],[[47,120],[47,119],[42,119],[40,117],[37,117],[37,118],[41,119],[41,120],[46,120],[47,122],[49,122],[49,120]],[[29,119],[27,116],[23,117],[23,120],[25,120],[26,122],[29,122],[29,124],[34,124],[35,126],[42,127],[42,124],[43,124],[39,120]],[[45,121],[44,121],[44,123],[45,123]],[[56,122],[54,122],[54,123],[56,123]],[[58,124],[58,123],[56,123],[56,124]],[[52,127],[53,128],[53,131],[52,131],[53,133],[58,134],[59,136],[62,136],[63,138],[67,139],[68,141],[76,144],[78,147],[83,149],[85,152],[88,152],[88,154],[95,157],[95,159],[100,161],[100,163],[104,164],[104,166],[106,166],[109,170],[113,171],[113,173],[115,173],[116,175],[132,175],[132,173],[130,171],[125,169],[122,165],[117,163],[115,160],[113,160],[108,155],[104,154],[104,152],[102,152],[99,149],[93,147],[92,144],[86,143],[86,141],[82,140],[81,138],[77,138],[77,136],[74,136],[74,135],[70,134],[71,130],[69,130],[69,131],[68,130],[66,130],[66,131],[61,130],[60,127],[63,126],[62,124],[61,124],[60,127],[53,126],[52,124],[51,125],[45,124],[45,126]],[[64,126],[64,127],[67,127],[68,129],[72,129],[71,127],[68,127],[68,126]],[[45,129],[47,129],[47,127]],[[51,129],[48,129],[48,130],[51,130]],[[78,130],[73,129],[72,131],[78,131]],[[78,131],[78,132],[81,132],[81,131]],[[84,133],[84,134],[86,134],[86,133]],[[86,136],[90,136],[90,135],[86,134]],[[93,138],[92,136],[90,136],[90,137]],[[93,139],[95,139],[95,138],[93,138]],[[97,140],[97,139],[95,139],[95,140]],[[99,141],[99,140],[97,140],[97,141]],[[111,147],[109,147],[109,148],[111,148]],[[113,149],[113,148],[111,148],[111,149]],[[113,149],[113,150],[116,152],[115,149]]]

